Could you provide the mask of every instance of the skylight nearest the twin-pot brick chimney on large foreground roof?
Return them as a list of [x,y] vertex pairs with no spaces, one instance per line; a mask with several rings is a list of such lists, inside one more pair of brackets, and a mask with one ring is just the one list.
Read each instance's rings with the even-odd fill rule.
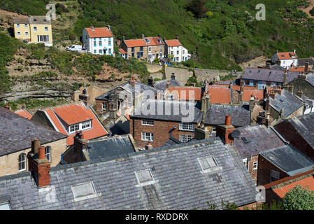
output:
[[98,197],[101,194],[97,194],[96,190],[94,188],[94,183],[88,182],[88,183],[79,183],[75,186],[71,186],[72,193],[75,202],[81,201],[81,200],[87,200],[92,197]]

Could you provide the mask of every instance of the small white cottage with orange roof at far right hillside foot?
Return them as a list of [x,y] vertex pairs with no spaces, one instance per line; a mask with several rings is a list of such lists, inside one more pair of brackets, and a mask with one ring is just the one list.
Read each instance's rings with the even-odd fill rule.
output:
[[290,69],[290,67],[298,65],[298,56],[294,52],[278,52],[271,57],[271,62],[273,64],[278,64],[283,68]]

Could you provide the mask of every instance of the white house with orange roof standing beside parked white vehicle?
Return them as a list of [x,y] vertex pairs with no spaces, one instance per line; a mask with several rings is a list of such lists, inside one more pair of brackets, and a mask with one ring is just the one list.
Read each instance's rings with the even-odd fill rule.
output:
[[84,28],[82,31],[83,47],[95,55],[113,55],[113,33],[110,26]]

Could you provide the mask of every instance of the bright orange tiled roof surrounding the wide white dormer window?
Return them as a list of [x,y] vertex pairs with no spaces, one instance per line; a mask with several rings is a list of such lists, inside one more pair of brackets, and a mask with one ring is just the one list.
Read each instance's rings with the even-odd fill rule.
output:
[[[96,139],[98,137],[103,137],[106,134],[108,134],[108,132],[106,132],[104,126],[101,125],[98,118],[94,115],[94,113],[92,112],[91,109],[85,107],[85,105],[83,103],[80,103],[78,105],[81,108],[85,108],[85,115],[88,116],[87,120],[92,120],[92,129],[83,131],[85,140]],[[71,106],[78,106],[78,105],[71,104],[69,106],[71,107]],[[63,108],[63,107],[67,107],[67,106],[62,106],[61,108]],[[68,136],[67,144],[68,144],[68,146],[71,146],[74,144],[73,137],[75,136],[75,134],[69,135],[66,132],[66,130],[64,130],[64,127],[61,125],[61,123],[59,122],[59,120],[57,118],[56,113],[54,112],[55,110],[56,109],[48,109],[45,112],[48,114],[48,116],[52,120],[52,123],[54,123],[55,127],[57,127],[58,131],[62,134],[66,134]],[[67,109],[66,109],[66,111],[67,111]],[[78,111],[75,111],[75,112],[78,112]],[[71,112],[70,114],[73,115],[74,112]]]

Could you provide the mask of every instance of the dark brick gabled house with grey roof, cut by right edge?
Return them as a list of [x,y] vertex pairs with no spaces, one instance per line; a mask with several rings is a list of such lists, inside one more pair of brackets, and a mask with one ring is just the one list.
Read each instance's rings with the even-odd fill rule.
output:
[[314,113],[281,120],[275,128],[292,146],[314,160]]

